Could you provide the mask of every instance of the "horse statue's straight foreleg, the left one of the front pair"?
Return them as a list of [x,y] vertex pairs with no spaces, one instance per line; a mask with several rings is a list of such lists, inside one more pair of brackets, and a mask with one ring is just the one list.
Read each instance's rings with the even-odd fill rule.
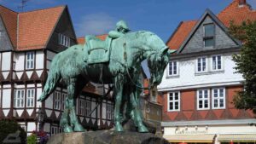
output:
[[124,76],[119,74],[114,78],[114,94],[115,94],[115,105],[114,105],[114,129],[116,131],[124,131],[121,124],[120,109],[123,98],[123,86]]

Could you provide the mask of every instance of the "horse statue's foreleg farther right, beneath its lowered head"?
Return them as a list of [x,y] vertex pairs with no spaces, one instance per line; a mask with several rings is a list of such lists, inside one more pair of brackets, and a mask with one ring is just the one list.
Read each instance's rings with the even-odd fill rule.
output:
[[137,92],[137,88],[135,88],[134,91],[132,91],[131,93],[131,105],[132,105],[132,112],[134,115],[134,122],[138,127],[138,132],[148,132],[148,129],[145,127],[145,125],[143,124],[143,116],[140,112],[140,108],[139,108],[139,101],[137,98],[138,92]]

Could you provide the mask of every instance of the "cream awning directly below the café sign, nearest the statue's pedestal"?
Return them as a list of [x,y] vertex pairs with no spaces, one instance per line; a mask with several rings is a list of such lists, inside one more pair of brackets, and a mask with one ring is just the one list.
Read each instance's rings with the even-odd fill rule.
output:
[[215,135],[164,135],[170,142],[212,143]]

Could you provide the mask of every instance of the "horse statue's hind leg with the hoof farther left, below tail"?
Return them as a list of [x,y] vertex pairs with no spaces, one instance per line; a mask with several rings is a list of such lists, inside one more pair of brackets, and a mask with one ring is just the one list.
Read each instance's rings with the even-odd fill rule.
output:
[[68,123],[68,113],[69,113],[69,107],[68,107],[68,101],[67,101],[67,97],[66,97],[66,100],[65,100],[65,109],[64,111],[62,112],[62,115],[61,115],[61,122],[60,122],[60,125],[61,127],[63,127],[63,131],[65,133],[71,133],[73,132],[72,130],[72,127],[69,125]]

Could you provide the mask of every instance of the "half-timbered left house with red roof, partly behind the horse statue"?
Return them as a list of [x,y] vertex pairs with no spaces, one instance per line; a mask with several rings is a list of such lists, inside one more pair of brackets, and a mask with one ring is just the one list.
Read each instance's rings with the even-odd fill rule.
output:
[[[0,43],[0,120],[15,119],[29,135],[38,130],[35,118],[41,108],[45,114],[42,130],[50,135],[61,132],[67,89],[59,84],[46,101],[37,99],[51,60],[78,43],[67,6],[23,13],[0,6]],[[84,88],[76,104],[85,129],[112,127],[113,101],[102,99],[94,85]]]

